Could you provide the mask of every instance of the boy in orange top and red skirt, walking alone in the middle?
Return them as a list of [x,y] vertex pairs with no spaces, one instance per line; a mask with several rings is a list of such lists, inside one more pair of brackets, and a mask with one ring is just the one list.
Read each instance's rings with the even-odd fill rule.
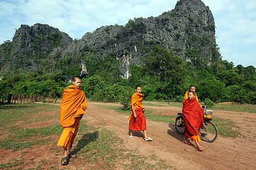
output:
[[134,139],[133,130],[143,131],[144,140],[151,141],[152,137],[148,137],[146,128],[146,118],[144,115],[145,107],[142,102],[144,94],[141,94],[141,87],[136,87],[136,92],[130,100],[130,116],[129,116],[129,137]]

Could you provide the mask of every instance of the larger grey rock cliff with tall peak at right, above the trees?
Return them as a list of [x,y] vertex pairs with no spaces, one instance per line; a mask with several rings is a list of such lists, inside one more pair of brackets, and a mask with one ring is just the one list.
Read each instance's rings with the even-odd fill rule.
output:
[[[69,52],[79,56],[84,46],[99,52],[116,52],[121,77],[130,76],[130,66],[142,64],[140,58],[152,49],[153,45],[162,45],[174,50],[176,55],[191,61],[190,50],[196,50],[198,57],[209,63],[218,60],[213,56],[212,47],[216,45],[215,23],[208,6],[200,0],[181,0],[172,11],[158,17],[135,18],[126,26],[104,26],[93,33],[86,33],[81,40],[72,42],[62,57]],[[215,58],[214,58],[215,57]]]

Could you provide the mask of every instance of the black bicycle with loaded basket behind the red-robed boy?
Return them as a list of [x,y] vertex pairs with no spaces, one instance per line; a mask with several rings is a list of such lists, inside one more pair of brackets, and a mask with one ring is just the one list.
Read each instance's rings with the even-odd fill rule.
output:
[[[214,142],[218,137],[218,128],[214,123],[211,122],[213,111],[206,110],[202,107],[204,111],[204,128],[199,128],[199,136],[201,140],[205,142]],[[180,134],[184,134],[185,125],[182,117],[182,113],[177,113],[178,117],[175,119],[175,129]]]

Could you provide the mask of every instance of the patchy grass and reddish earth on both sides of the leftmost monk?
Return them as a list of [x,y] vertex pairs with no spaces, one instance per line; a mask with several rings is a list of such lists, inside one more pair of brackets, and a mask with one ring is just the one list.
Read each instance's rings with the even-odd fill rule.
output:
[[[54,123],[41,128],[38,125],[43,121],[59,120],[60,106],[35,103],[18,103],[0,106],[0,150],[17,152],[22,151],[24,156],[17,159],[10,159],[5,164],[0,164],[0,169],[58,169],[60,160],[55,159],[60,155],[60,148],[57,147],[57,140],[60,137],[62,128],[60,124]],[[42,114],[45,113],[45,114]],[[47,113],[47,114],[46,114]],[[32,126],[31,126],[32,125]],[[91,169],[172,169],[164,160],[154,157],[145,157],[135,151],[128,152],[123,141],[116,137],[111,130],[88,126],[86,121],[81,121],[79,133],[74,143],[74,153],[79,152],[79,164],[77,169],[87,166]],[[27,160],[25,154],[33,151],[35,147],[49,145],[48,152],[52,159]],[[1,153],[1,152],[0,152]],[[49,156],[50,157],[50,156]],[[25,168],[26,167],[26,168]],[[174,168],[173,168],[174,169]]]

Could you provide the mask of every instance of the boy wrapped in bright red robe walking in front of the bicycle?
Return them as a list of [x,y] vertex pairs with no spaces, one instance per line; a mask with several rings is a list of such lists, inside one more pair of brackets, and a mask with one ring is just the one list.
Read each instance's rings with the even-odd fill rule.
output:
[[196,149],[203,151],[204,148],[199,146],[199,142],[201,142],[199,127],[204,128],[204,111],[202,110],[199,102],[196,101],[194,91],[189,91],[188,98],[184,102],[182,108],[182,115],[185,124],[184,138],[182,142],[184,144],[191,145],[188,140],[189,137],[192,141],[196,142]]

